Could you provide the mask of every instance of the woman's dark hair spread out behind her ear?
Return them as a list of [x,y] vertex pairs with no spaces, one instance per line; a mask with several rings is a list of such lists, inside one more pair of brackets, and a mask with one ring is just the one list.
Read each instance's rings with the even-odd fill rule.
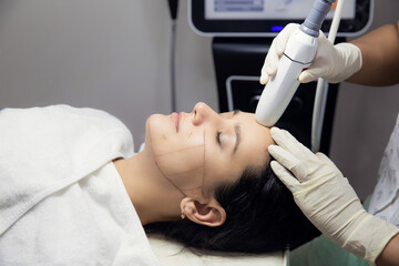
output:
[[185,218],[149,224],[145,229],[188,247],[242,253],[295,248],[320,234],[297,207],[269,163],[262,171],[245,170],[235,183],[218,185],[215,198],[227,215],[221,226],[209,227]]

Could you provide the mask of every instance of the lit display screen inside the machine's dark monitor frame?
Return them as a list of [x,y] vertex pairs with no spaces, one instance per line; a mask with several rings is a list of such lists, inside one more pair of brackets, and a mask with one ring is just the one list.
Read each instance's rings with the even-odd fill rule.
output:
[[[207,20],[305,19],[314,0],[205,0]],[[336,3],[327,18],[332,18]],[[354,19],[356,0],[346,0],[342,19]]]

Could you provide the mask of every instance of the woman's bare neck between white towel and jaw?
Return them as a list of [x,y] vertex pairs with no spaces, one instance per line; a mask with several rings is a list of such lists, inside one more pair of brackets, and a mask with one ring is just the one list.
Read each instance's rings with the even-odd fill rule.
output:
[[182,193],[163,176],[151,152],[114,164],[142,225],[178,219]]

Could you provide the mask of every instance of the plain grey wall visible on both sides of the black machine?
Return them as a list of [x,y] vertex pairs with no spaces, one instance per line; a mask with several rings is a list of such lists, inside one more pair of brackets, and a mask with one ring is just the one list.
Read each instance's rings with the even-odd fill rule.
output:
[[[216,109],[212,40],[190,29],[180,2],[177,109]],[[398,10],[397,0],[377,0],[372,29],[396,22]],[[103,109],[140,144],[146,117],[171,111],[170,30],[166,0],[0,0],[0,108]],[[360,197],[371,193],[398,100],[398,85],[341,85],[331,157]]]

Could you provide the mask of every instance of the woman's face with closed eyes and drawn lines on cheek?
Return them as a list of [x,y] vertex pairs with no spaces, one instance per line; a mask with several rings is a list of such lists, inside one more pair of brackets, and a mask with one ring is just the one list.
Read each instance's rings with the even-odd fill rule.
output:
[[161,173],[185,196],[206,198],[248,166],[264,167],[273,144],[269,129],[254,114],[218,114],[205,103],[197,103],[192,113],[151,115],[145,142]]

